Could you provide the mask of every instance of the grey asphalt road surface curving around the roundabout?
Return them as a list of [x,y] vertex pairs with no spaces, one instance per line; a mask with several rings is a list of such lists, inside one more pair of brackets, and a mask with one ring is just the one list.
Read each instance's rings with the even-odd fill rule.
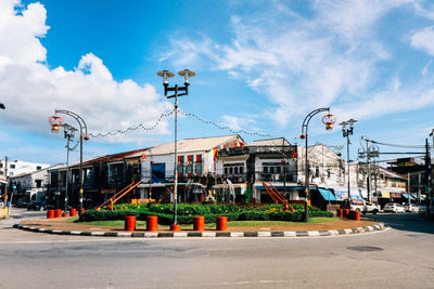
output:
[[434,223],[414,214],[369,218],[394,228],[318,238],[130,239],[38,234],[3,220],[0,288],[434,288]]

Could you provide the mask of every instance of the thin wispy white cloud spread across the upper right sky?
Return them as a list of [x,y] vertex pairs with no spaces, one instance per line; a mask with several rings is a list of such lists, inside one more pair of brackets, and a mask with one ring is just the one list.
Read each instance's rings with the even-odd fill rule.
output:
[[[189,57],[201,62],[206,58],[216,69],[243,79],[268,96],[270,105],[264,109],[281,127],[304,117],[312,107],[332,106],[335,111],[357,114],[360,119],[433,103],[429,81],[409,86],[406,79],[384,69],[396,61],[396,55],[379,31],[380,22],[388,13],[398,9],[408,13],[409,8],[416,13],[419,3],[318,0],[307,8],[307,16],[294,15],[295,10],[282,5],[279,2],[279,10],[271,6],[255,11],[254,17],[232,16],[233,37],[228,43],[207,37],[187,39],[190,51],[174,45],[171,56],[177,60],[192,52]],[[403,35],[406,32],[403,30]],[[413,47],[434,55],[431,27],[412,40]]]

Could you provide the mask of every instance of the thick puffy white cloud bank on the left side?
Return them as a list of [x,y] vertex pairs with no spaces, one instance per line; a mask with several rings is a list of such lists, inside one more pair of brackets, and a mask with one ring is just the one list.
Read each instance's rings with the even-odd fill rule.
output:
[[[162,113],[173,109],[150,84],[113,80],[103,61],[92,53],[82,55],[74,70],[50,69],[47,50],[39,41],[49,29],[46,17],[40,3],[25,8],[18,0],[1,1],[0,95],[7,105],[1,114],[3,123],[48,133],[48,117],[61,108],[81,116],[90,132],[104,132],[139,123],[150,127]],[[62,117],[77,126],[74,119]],[[152,133],[168,133],[167,122],[164,120]],[[139,130],[108,141],[140,141],[146,135]]]

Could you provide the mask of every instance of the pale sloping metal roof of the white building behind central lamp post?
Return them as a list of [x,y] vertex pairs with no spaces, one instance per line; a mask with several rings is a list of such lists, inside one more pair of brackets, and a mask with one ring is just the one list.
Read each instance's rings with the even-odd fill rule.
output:
[[[213,136],[213,137],[199,137],[199,139],[184,139],[178,141],[178,154],[186,154],[192,152],[207,152],[220,145],[225,145],[235,140],[243,141],[239,135],[224,135],[224,136]],[[145,149],[145,152],[150,155],[169,155],[175,152],[175,142],[165,143],[158,146],[151,147]],[[140,154],[136,154],[136,156],[140,156]],[[133,157],[131,155],[130,157]]]

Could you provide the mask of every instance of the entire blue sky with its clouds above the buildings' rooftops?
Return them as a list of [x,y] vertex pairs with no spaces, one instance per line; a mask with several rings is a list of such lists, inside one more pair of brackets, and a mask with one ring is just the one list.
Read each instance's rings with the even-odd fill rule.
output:
[[[434,128],[433,56],[431,1],[1,0],[0,154],[65,161],[65,140],[47,122],[55,108],[80,115],[90,133],[151,127],[173,108],[156,73],[184,68],[197,75],[181,110],[256,133],[241,134],[247,142],[299,143],[304,117],[330,106],[337,123],[358,120],[353,159],[361,135],[421,145]],[[310,143],[345,144],[321,117]],[[91,137],[85,159],[173,141],[173,128],[164,118],[152,131]],[[179,120],[180,139],[230,133]]]

